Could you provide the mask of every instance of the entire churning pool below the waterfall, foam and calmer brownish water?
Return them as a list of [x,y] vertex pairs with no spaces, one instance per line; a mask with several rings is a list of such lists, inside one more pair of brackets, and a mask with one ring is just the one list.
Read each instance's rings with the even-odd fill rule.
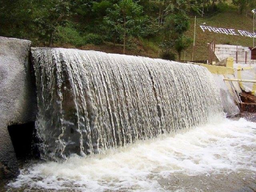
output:
[[212,119],[93,157],[24,165],[8,192],[255,192],[256,123]]

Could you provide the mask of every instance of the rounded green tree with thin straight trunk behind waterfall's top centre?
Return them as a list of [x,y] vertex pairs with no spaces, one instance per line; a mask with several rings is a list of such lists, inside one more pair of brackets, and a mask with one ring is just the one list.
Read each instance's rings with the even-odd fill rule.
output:
[[128,36],[136,36],[140,27],[140,18],[142,6],[133,2],[133,0],[120,0],[114,4],[113,9],[108,9],[107,16],[104,17],[104,23],[110,28],[109,32],[114,38],[122,34],[123,53],[125,54],[126,40]]

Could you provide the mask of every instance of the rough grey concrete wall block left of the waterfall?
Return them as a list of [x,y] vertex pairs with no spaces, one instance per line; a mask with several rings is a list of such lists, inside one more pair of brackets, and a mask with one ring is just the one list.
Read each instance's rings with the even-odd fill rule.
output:
[[36,118],[30,44],[26,40],[0,37],[0,178],[18,172],[8,125],[35,121]]

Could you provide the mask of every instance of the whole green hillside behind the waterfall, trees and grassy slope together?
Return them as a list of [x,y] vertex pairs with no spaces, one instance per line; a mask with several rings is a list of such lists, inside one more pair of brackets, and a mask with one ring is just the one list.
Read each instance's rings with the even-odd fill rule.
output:
[[0,1],[0,36],[33,46],[192,60],[207,43],[252,46],[252,38],[203,32],[199,25],[253,31],[256,0],[15,0]]

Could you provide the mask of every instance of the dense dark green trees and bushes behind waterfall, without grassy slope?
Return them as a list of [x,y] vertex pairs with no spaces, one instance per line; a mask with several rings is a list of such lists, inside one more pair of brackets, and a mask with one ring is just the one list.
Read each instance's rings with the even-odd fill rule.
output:
[[[34,46],[112,43],[133,49],[154,41],[173,59],[190,44],[194,15],[204,16],[223,0],[7,0],[0,1],[0,36],[28,39]],[[254,0],[233,0],[244,11]],[[250,6],[253,6],[251,5]],[[241,12],[242,12],[241,11]]]

